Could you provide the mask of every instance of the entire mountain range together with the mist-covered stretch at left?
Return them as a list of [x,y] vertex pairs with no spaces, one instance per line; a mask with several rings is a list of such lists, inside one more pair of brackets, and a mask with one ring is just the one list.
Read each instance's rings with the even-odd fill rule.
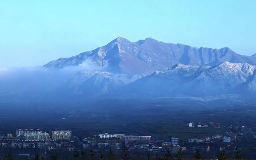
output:
[[18,75],[0,79],[0,100],[253,97],[256,54],[118,37],[95,50],[51,61],[28,76]]

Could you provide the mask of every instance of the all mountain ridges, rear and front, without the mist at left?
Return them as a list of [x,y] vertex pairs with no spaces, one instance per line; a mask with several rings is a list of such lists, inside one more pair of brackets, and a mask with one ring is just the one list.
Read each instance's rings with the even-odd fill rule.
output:
[[80,96],[171,97],[240,94],[256,90],[256,56],[229,48],[195,48],[146,38],[130,42],[118,37],[106,46],[47,68],[79,66],[89,61],[97,71],[82,71],[61,86]]

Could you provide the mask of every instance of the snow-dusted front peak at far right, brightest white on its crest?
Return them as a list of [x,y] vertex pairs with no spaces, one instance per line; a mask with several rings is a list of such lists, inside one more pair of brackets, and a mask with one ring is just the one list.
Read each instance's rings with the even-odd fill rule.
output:
[[250,80],[254,71],[255,66],[248,63],[223,62],[198,74],[185,85],[184,92],[197,95],[237,93],[241,89],[238,87]]

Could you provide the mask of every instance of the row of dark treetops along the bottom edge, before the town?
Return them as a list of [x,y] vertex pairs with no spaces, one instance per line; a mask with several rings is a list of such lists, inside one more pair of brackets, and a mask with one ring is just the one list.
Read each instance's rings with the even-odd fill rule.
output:
[[[104,156],[102,154],[102,152],[100,151],[85,151],[85,150],[80,150],[80,151],[75,151],[72,156],[68,157],[66,156],[61,156],[60,154],[51,154],[50,157],[47,157],[45,155],[40,155],[40,154],[36,154],[34,156],[34,158],[30,158],[30,157],[25,157],[25,160],[200,160],[203,159],[201,157],[200,151],[196,150],[195,153],[193,153],[190,156],[193,156],[193,158],[184,158],[184,156],[188,156],[186,155],[186,152],[184,151],[179,151],[175,154],[175,156],[173,157],[172,153],[170,150],[167,150],[166,153],[164,154],[164,156],[160,157],[158,156],[158,154],[154,154],[154,156],[152,155],[152,153],[148,152],[146,154],[146,157],[141,157],[140,153],[135,153],[135,158],[134,157],[130,157],[130,153],[128,152],[128,148],[123,147],[121,150],[121,153],[119,156],[117,156],[117,154],[115,154],[113,152],[113,150],[110,148],[110,150],[108,151],[108,154],[106,156]],[[234,158],[233,159],[241,159],[242,158],[242,152],[240,150],[236,150],[234,151],[233,154]],[[216,157],[218,160],[231,160],[230,158],[228,158],[227,153],[224,150],[221,150],[218,153],[218,157]],[[216,159],[215,158],[215,159]],[[12,155],[12,153],[7,154],[6,156],[4,156],[4,160],[14,160],[14,157]]]

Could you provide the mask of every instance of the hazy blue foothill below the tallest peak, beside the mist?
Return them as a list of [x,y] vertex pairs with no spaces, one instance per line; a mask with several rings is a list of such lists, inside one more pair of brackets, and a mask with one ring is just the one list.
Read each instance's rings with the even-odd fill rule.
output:
[[140,75],[114,74],[101,71],[81,71],[56,92],[72,96],[99,96],[131,83]]

